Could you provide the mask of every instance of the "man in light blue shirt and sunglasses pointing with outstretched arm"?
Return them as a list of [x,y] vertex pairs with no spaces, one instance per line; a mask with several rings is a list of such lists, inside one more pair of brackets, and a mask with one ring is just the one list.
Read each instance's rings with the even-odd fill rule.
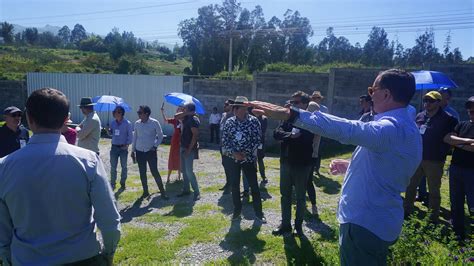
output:
[[369,87],[375,120],[364,123],[322,112],[287,109],[263,102],[255,112],[288,120],[294,126],[358,145],[344,178],[337,217],[342,265],[385,265],[388,247],[403,224],[403,201],[410,178],[421,162],[421,136],[406,106],[415,93],[412,74],[391,69]]

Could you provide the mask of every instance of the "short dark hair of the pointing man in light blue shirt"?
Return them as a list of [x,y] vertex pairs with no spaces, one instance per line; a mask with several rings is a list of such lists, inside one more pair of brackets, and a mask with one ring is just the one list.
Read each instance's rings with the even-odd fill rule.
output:
[[408,104],[415,94],[415,77],[401,69],[389,69],[379,73],[379,84],[388,89],[396,102]]

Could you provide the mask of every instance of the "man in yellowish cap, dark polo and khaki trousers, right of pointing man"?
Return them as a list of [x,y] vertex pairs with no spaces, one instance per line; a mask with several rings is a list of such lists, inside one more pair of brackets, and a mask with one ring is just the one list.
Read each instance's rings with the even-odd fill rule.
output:
[[456,118],[446,113],[441,107],[442,96],[437,91],[430,91],[423,97],[424,111],[416,117],[416,124],[423,139],[423,158],[421,164],[410,180],[405,193],[405,216],[413,212],[416,197],[416,188],[421,178],[426,176],[428,181],[429,200],[431,210],[430,219],[438,222],[441,204],[441,177],[449,144],[443,141],[444,137],[453,132],[457,124]]

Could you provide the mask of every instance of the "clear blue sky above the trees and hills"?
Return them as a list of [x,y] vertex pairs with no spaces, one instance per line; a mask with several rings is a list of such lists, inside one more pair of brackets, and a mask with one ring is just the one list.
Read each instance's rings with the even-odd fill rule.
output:
[[[23,26],[42,27],[75,23],[88,32],[107,34],[113,27],[133,31],[145,40],[181,43],[178,23],[197,16],[197,9],[221,1],[191,0],[0,0],[0,20]],[[474,0],[242,0],[242,7],[263,8],[266,19],[282,18],[287,9],[298,10],[309,18],[314,36],[312,43],[324,38],[325,30],[334,27],[336,35],[352,44],[363,45],[371,26],[386,29],[389,39],[398,37],[405,48],[412,47],[427,27],[435,30],[436,46],[443,50],[451,30],[451,49],[459,47],[463,57],[474,56]]]

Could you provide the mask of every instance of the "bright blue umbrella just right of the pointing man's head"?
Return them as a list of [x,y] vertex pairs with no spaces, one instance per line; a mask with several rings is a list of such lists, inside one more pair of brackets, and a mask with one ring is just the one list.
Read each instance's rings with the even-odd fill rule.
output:
[[415,76],[416,90],[435,90],[441,87],[458,87],[454,81],[442,72],[421,70],[411,73]]

